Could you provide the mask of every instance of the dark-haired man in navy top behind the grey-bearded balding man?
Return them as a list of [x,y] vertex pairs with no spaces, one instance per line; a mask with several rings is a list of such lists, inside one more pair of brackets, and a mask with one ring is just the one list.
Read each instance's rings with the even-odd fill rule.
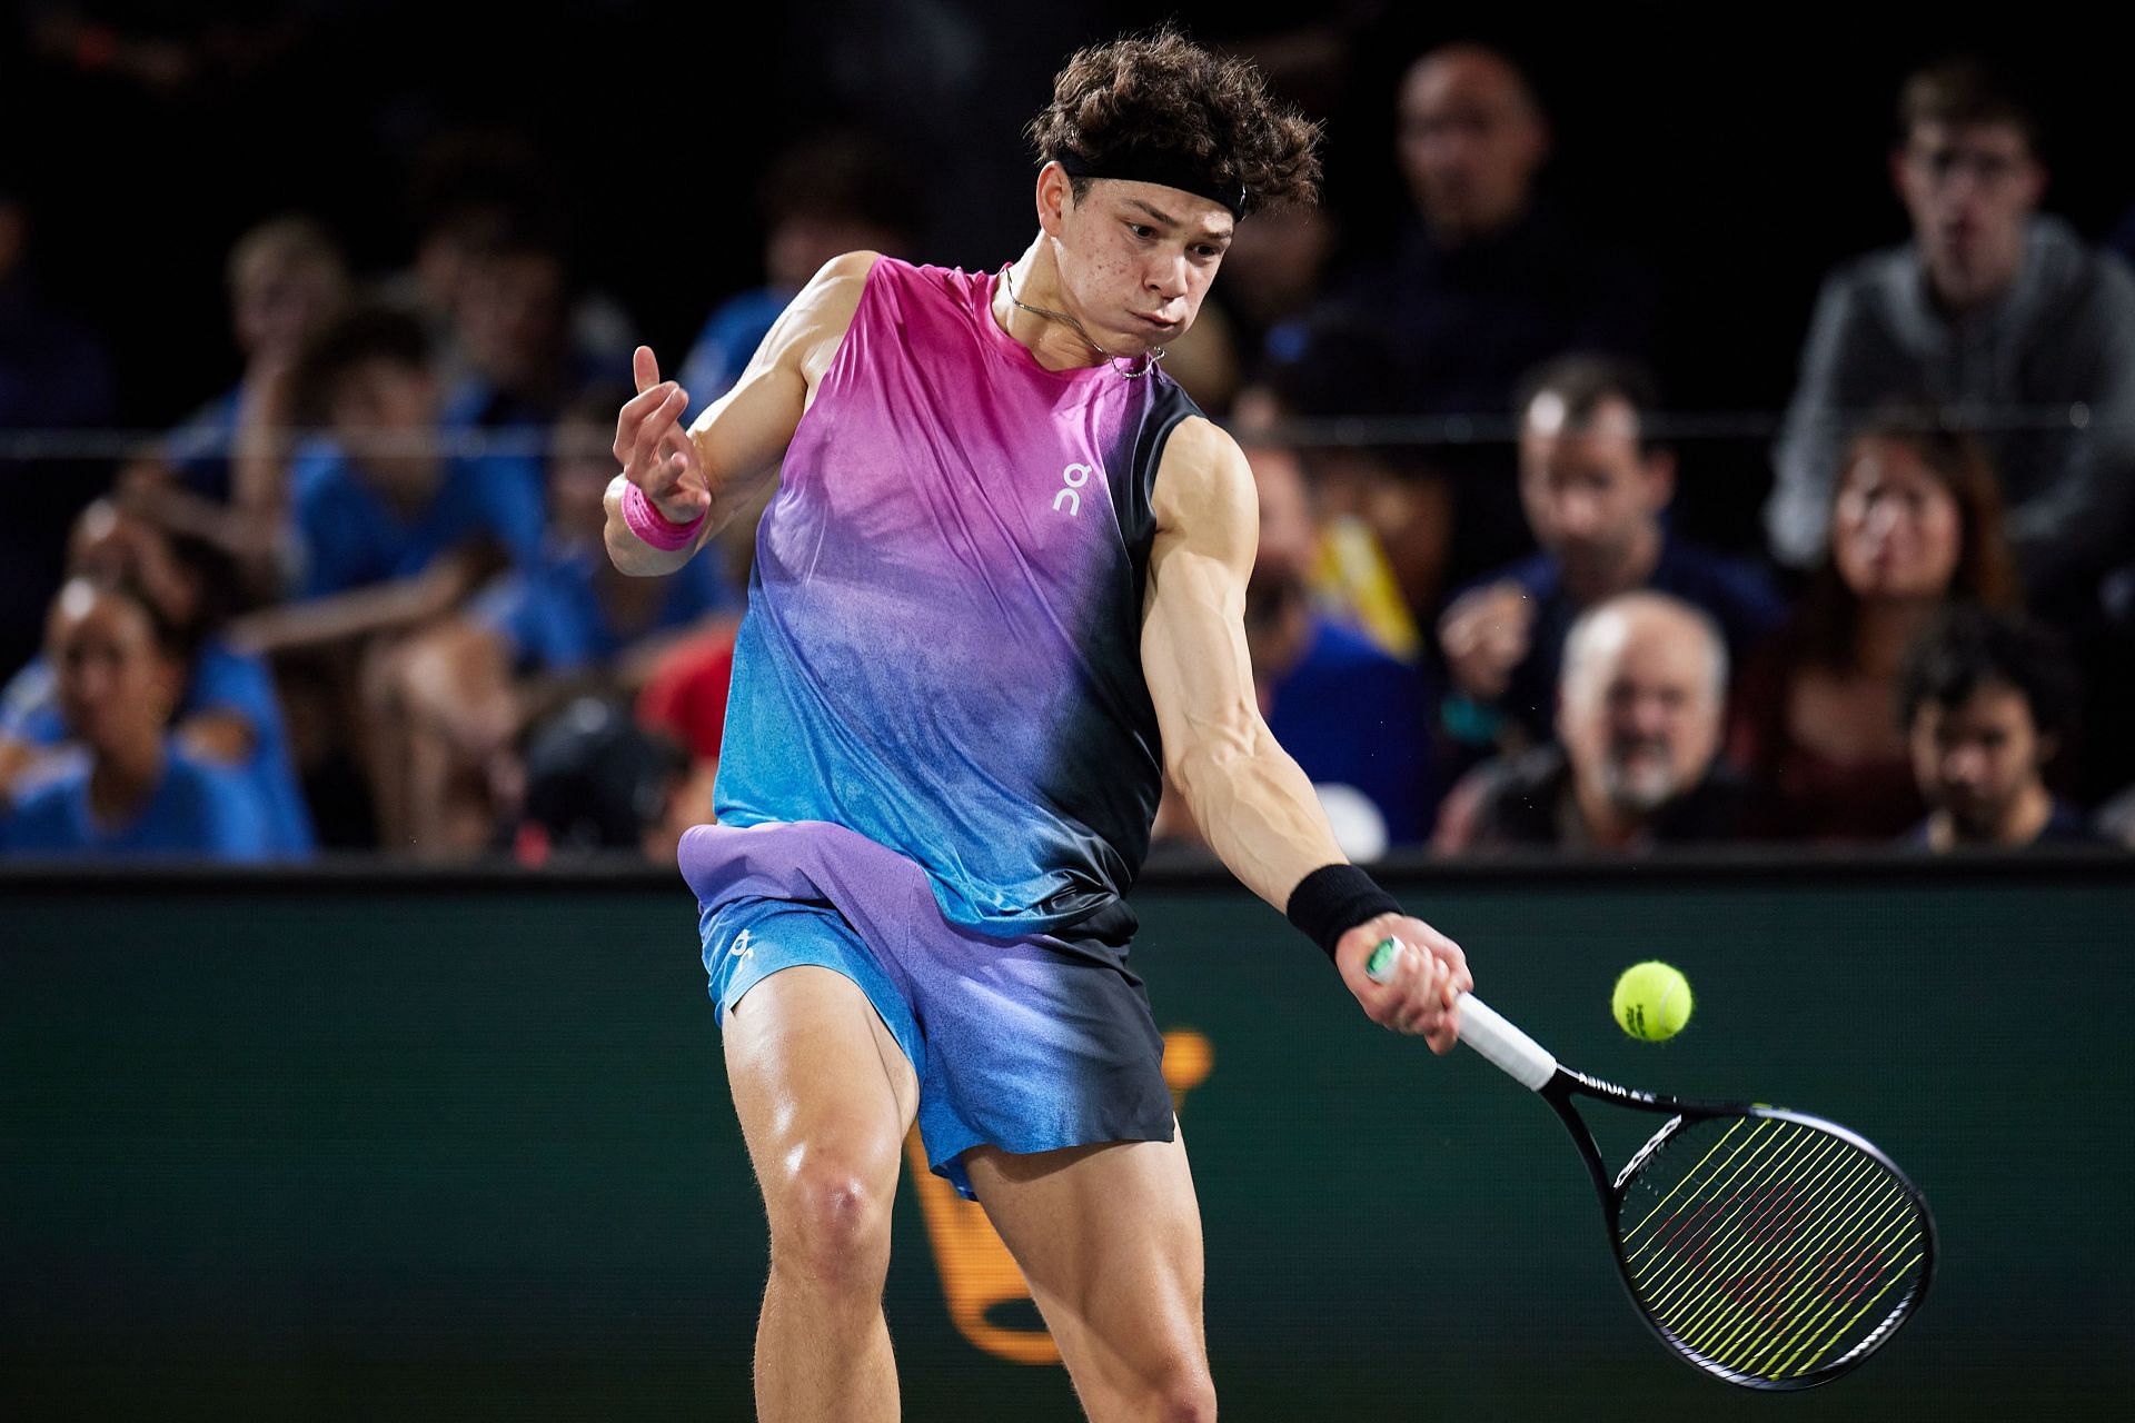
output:
[[1648,433],[1652,380],[1561,356],[1520,399],[1520,503],[1541,553],[1462,591],[1439,619],[1448,725],[1471,745],[1544,742],[1565,634],[1586,608],[1652,589],[1704,610],[1740,659],[1785,614],[1764,574],[1670,533],[1676,457]]

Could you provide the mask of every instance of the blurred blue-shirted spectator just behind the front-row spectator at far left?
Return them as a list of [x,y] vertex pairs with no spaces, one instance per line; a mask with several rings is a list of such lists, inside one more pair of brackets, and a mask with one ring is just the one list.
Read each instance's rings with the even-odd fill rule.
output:
[[[68,572],[128,582],[156,604],[177,657],[179,745],[190,757],[243,777],[265,811],[275,856],[310,856],[312,813],[290,766],[273,676],[256,653],[222,636],[237,585],[231,559],[205,540],[167,533],[100,499],[75,525]],[[73,751],[58,670],[49,657],[36,657],[0,689],[0,794]]]

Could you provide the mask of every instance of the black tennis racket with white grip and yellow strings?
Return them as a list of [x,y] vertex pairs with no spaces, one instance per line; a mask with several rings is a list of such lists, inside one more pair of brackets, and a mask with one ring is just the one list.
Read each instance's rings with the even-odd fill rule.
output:
[[[1392,977],[1394,945],[1366,973]],[[1693,1103],[1588,1077],[1473,994],[1460,1041],[1550,1103],[1601,1195],[1640,1318],[1744,1389],[1813,1389],[1887,1344],[1934,1278],[1934,1218],[1860,1133],[1802,1112]],[[1614,1176],[1576,1099],[1665,1116]]]

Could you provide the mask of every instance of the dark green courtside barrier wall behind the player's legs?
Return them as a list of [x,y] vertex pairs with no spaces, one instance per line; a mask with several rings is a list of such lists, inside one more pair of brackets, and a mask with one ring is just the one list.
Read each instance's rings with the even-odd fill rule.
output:
[[[1371,1028],[1236,888],[1153,877],[1157,1024],[1213,1043],[1181,1120],[1225,1419],[2126,1414],[2124,866],[1386,879],[1563,1060],[1883,1146],[1934,1291],[1793,1400],[1685,1368],[1544,1105]],[[1608,1018],[1648,956],[1697,992],[1665,1045]],[[0,873],[0,1417],[745,1419],[762,1274],[673,875]],[[910,1180],[886,1308],[905,1417],[1078,1417],[950,1327]]]

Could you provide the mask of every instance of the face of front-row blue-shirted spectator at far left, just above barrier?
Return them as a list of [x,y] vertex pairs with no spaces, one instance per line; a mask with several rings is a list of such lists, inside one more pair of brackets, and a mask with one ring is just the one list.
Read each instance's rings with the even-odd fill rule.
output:
[[45,655],[68,732],[96,753],[158,734],[171,710],[173,668],[156,631],[128,597],[70,582],[45,625]]

